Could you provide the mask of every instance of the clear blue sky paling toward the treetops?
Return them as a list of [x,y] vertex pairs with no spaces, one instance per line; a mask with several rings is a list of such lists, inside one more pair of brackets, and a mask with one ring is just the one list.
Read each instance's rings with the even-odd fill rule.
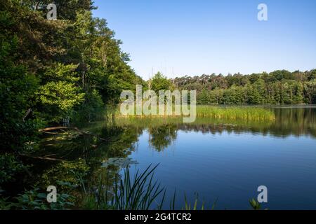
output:
[[[258,4],[268,21],[258,21]],[[316,69],[315,0],[95,0],[146,80]]]

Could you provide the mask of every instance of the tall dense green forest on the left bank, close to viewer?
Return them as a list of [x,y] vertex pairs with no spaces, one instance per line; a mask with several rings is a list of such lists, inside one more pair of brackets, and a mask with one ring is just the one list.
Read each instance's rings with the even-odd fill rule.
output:
[[55,21],[46,20],[48,3],[0,2],[0,186],[25,172],[41,128],[95,120],[144,83],[107,22],[93,18],[92,1],[54,1]]

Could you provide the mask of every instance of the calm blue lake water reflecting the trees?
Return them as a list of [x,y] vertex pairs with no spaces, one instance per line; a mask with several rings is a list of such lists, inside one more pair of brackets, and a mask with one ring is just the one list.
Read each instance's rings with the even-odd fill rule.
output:
[[[46,139],[46,154],[56,148],[62,158],[84,158],[91,184],[107,172],[101,162],[131,158],[131,173],[157,165],[154,179],[184,207],[184,195],[194,204],[216,209],[250,209],[258,186],[267,186],[268,209],[316,209],[316,107],[268,108],[276,119],[266,122],[198,118],[174,120],[111,120],[81,124],[100,135]],[[52,144],[53,141],[53,144]],[[109,168],[110,169],[110,168]],[[112,168],[113,169],[113,168]],[[122,174],[123,169],[113,169]],[[167,198],[168,198],[167,197]],[[169,203],[166,203],[169,204]],[[166,207],[165,209],[168,209]]]

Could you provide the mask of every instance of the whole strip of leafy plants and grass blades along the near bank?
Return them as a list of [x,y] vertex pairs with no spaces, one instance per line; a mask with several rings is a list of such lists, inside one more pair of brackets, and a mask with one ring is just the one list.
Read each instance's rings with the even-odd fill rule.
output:
[[[78,182],[81,183],[81,194],[77,191],[77,186],[72,183],[58,181],[58,186],[67,186],[67,189],[58,193],[57,203],[49,204],[46,201],[46,193],[40,188],[34,187],[27,190],[15,198],[15,202],[8,199],[0,199],[0,209],[22,209],[22,210],[65,210],[65,209],[90,209],[90,210],[162,210],[166,209],[166,188],[160,183],[154,181],[154,171],[159,165],[150,165],[145,171],[139,170],[131,176],[129,168],[126,167],[124,175],[119,181],[110,187],[108,180],[103,183],[100,178],[96,188],[88,190],[86,182],[82,176],[78,175]],[[74,196],[76,195],[76,196]],[[170,198],[169,210],[176,210],[176,190]],[[202,204],[199,195],[195,193],[194,203],[191,204],[184,195],[184,207],[182,210],[214,210],[218,199],[213,202],[211,207],[206,207],[204,201]],[[261,210],[261,204],[256,200],[249,200],[251,209]]]

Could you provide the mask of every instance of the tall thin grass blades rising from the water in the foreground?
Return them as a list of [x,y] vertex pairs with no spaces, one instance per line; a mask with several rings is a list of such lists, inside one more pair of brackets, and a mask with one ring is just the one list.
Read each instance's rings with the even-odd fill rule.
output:
[[[120,181],[114,183],[114,187],[108,186],[108,183],[103,185],[102,178],[98,183],[98,194],[89,193],[84,186],[84,181],[81,181],[83,187],[83,209],[112,209],[112,210],[162,210],[168,207],[166,200],[166,188],[162,187],[154,179],[154,171],[158,165],[152,167],[150,165],[143,172],[137,171],[131,176],[129,168],[125,169],[124,175]],[[106,181],[107,182],[107,181]],[[186,195],[183,210],[204,210],[205,203],[198,207],[199,197],[195,195],[194,204],[190,204]],[[216,200],[217,202],[217,200]],[[210,207],[215,209],[216,202]],[[176,190],[169,200],[169,209],[176,210]]]

